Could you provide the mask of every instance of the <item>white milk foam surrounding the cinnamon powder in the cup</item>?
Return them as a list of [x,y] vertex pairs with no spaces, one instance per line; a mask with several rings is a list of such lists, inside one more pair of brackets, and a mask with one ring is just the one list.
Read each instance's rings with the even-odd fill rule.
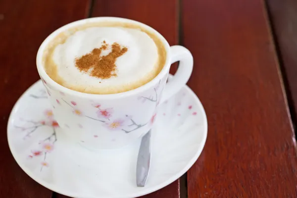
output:
[[[100,79],[81,72],[75,66],[75,59],[100,48],[104,41],[109,46],[100,56],[107,55],[113,43],[128,49],[116,60],[116,76]],[[158,48],[153,39],[139,29],[125,27],[79,30],[68,36],[63,44],[57,45],[51,58],[62,85],[85,93],[112,94],[135,89],[160,71]]]

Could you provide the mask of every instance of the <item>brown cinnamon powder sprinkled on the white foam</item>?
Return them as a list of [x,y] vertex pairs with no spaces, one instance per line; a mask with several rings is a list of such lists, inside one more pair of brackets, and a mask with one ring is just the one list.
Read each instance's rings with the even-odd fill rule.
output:
[[103,41],[103,45],[100,48],[93,49],[90,53],[87,53],[80,58],[75,59],[75,66],[81,72],[88,72],[90,69],[91,76],[108,79],[112,76],[116,76],[115,61],[118,57],[128,51],[126,47],[121,48],[118,43],[111,45],[111,52],[105,56],[100,56],[102,50],[108,48],[108,44]]

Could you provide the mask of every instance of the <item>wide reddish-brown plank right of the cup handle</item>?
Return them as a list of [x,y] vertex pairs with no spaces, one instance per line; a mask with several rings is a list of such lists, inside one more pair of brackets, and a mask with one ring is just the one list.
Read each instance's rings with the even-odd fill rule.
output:
[[296,141],[262,0],[183,0],[208,137],[188,196],[297,197]]

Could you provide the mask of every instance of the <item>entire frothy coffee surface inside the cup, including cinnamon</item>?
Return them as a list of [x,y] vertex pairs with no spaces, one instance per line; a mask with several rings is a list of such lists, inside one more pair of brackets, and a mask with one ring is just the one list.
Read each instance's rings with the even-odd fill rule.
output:
[[83,93],[115,94],[156,77],[166,61],[160,39],[145,28],[119,22],[87,23],[49,42],[43,65],[56,83]]

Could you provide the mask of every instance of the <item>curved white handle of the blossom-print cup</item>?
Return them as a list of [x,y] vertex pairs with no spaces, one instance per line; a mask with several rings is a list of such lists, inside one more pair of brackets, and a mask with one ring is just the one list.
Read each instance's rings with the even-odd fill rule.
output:
[[180,63],[175,75],[166,84],[160,103],[180,91],[188,82],[193,70],[193,56],[185,47],[171,46],[170,57],[171,64],[176,61],[180,61]]

